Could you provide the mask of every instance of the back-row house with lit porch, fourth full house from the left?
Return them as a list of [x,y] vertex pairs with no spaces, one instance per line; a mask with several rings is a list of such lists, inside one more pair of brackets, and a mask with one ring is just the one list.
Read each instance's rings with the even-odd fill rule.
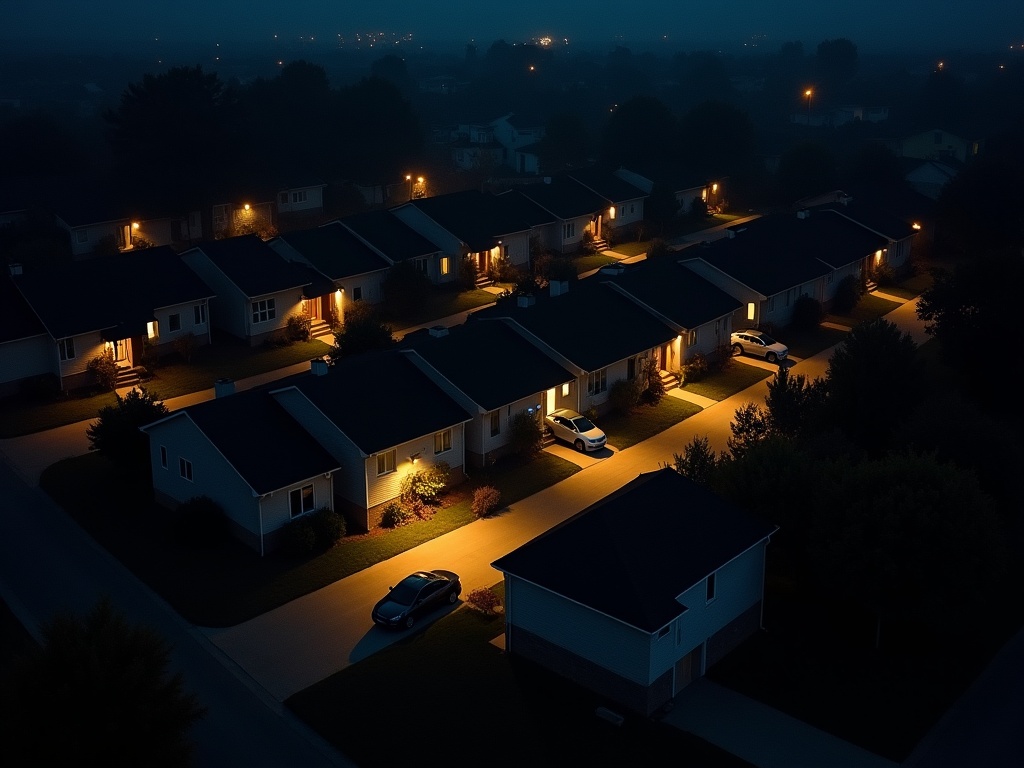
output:
[[523,217],[521,205],[509,205],[503,198],[468,189],[420,198],[392,208],[391,213],[437,244],[441,255],[436,282],[445,283],[458,278],[464,257],[473,260],[481,278],[499,260],[515,266],[529,264],[532,226]]

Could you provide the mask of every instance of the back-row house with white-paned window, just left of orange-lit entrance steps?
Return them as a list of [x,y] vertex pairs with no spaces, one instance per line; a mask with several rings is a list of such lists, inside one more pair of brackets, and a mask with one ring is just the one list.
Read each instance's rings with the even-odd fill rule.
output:
[[214,291],[213,327],[253,346],[283,335],[289,317],[308,314],[304,302],[313,297],[306,291],[316,273],[282,258],[255,234],[202,243],[181,259]]

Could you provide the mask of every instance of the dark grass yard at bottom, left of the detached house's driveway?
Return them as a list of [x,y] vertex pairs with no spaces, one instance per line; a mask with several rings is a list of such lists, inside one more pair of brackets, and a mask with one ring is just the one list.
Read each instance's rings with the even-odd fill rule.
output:
[[600,720],[607,702],[504,654],[489,642],[503,631],[502,615],[462,605],[285,705],[364,768],[748,766],[645,718]]

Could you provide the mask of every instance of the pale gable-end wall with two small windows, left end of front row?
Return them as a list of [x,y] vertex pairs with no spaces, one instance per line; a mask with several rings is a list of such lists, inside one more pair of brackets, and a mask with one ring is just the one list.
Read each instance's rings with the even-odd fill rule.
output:
[[[166,468],[161,463],[161,445],[167,450]],[[150,430],[150,459],[153,487],[160,501],[176,506],[193,497],[207,496],[221,506],[236,534],[257,551],[260,549],[259,500],[186,416]],[[181,476],[179,459],[191,462],[191,480]]]

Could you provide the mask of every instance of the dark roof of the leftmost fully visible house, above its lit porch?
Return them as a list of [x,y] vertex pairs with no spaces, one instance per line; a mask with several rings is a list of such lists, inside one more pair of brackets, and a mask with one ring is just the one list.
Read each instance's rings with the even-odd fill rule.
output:
[[137,335],[155,319],[154,310],[214,295],[167,246],[27,267],[15,285],[54,339],[120,329],[123,335],[108,338]]

